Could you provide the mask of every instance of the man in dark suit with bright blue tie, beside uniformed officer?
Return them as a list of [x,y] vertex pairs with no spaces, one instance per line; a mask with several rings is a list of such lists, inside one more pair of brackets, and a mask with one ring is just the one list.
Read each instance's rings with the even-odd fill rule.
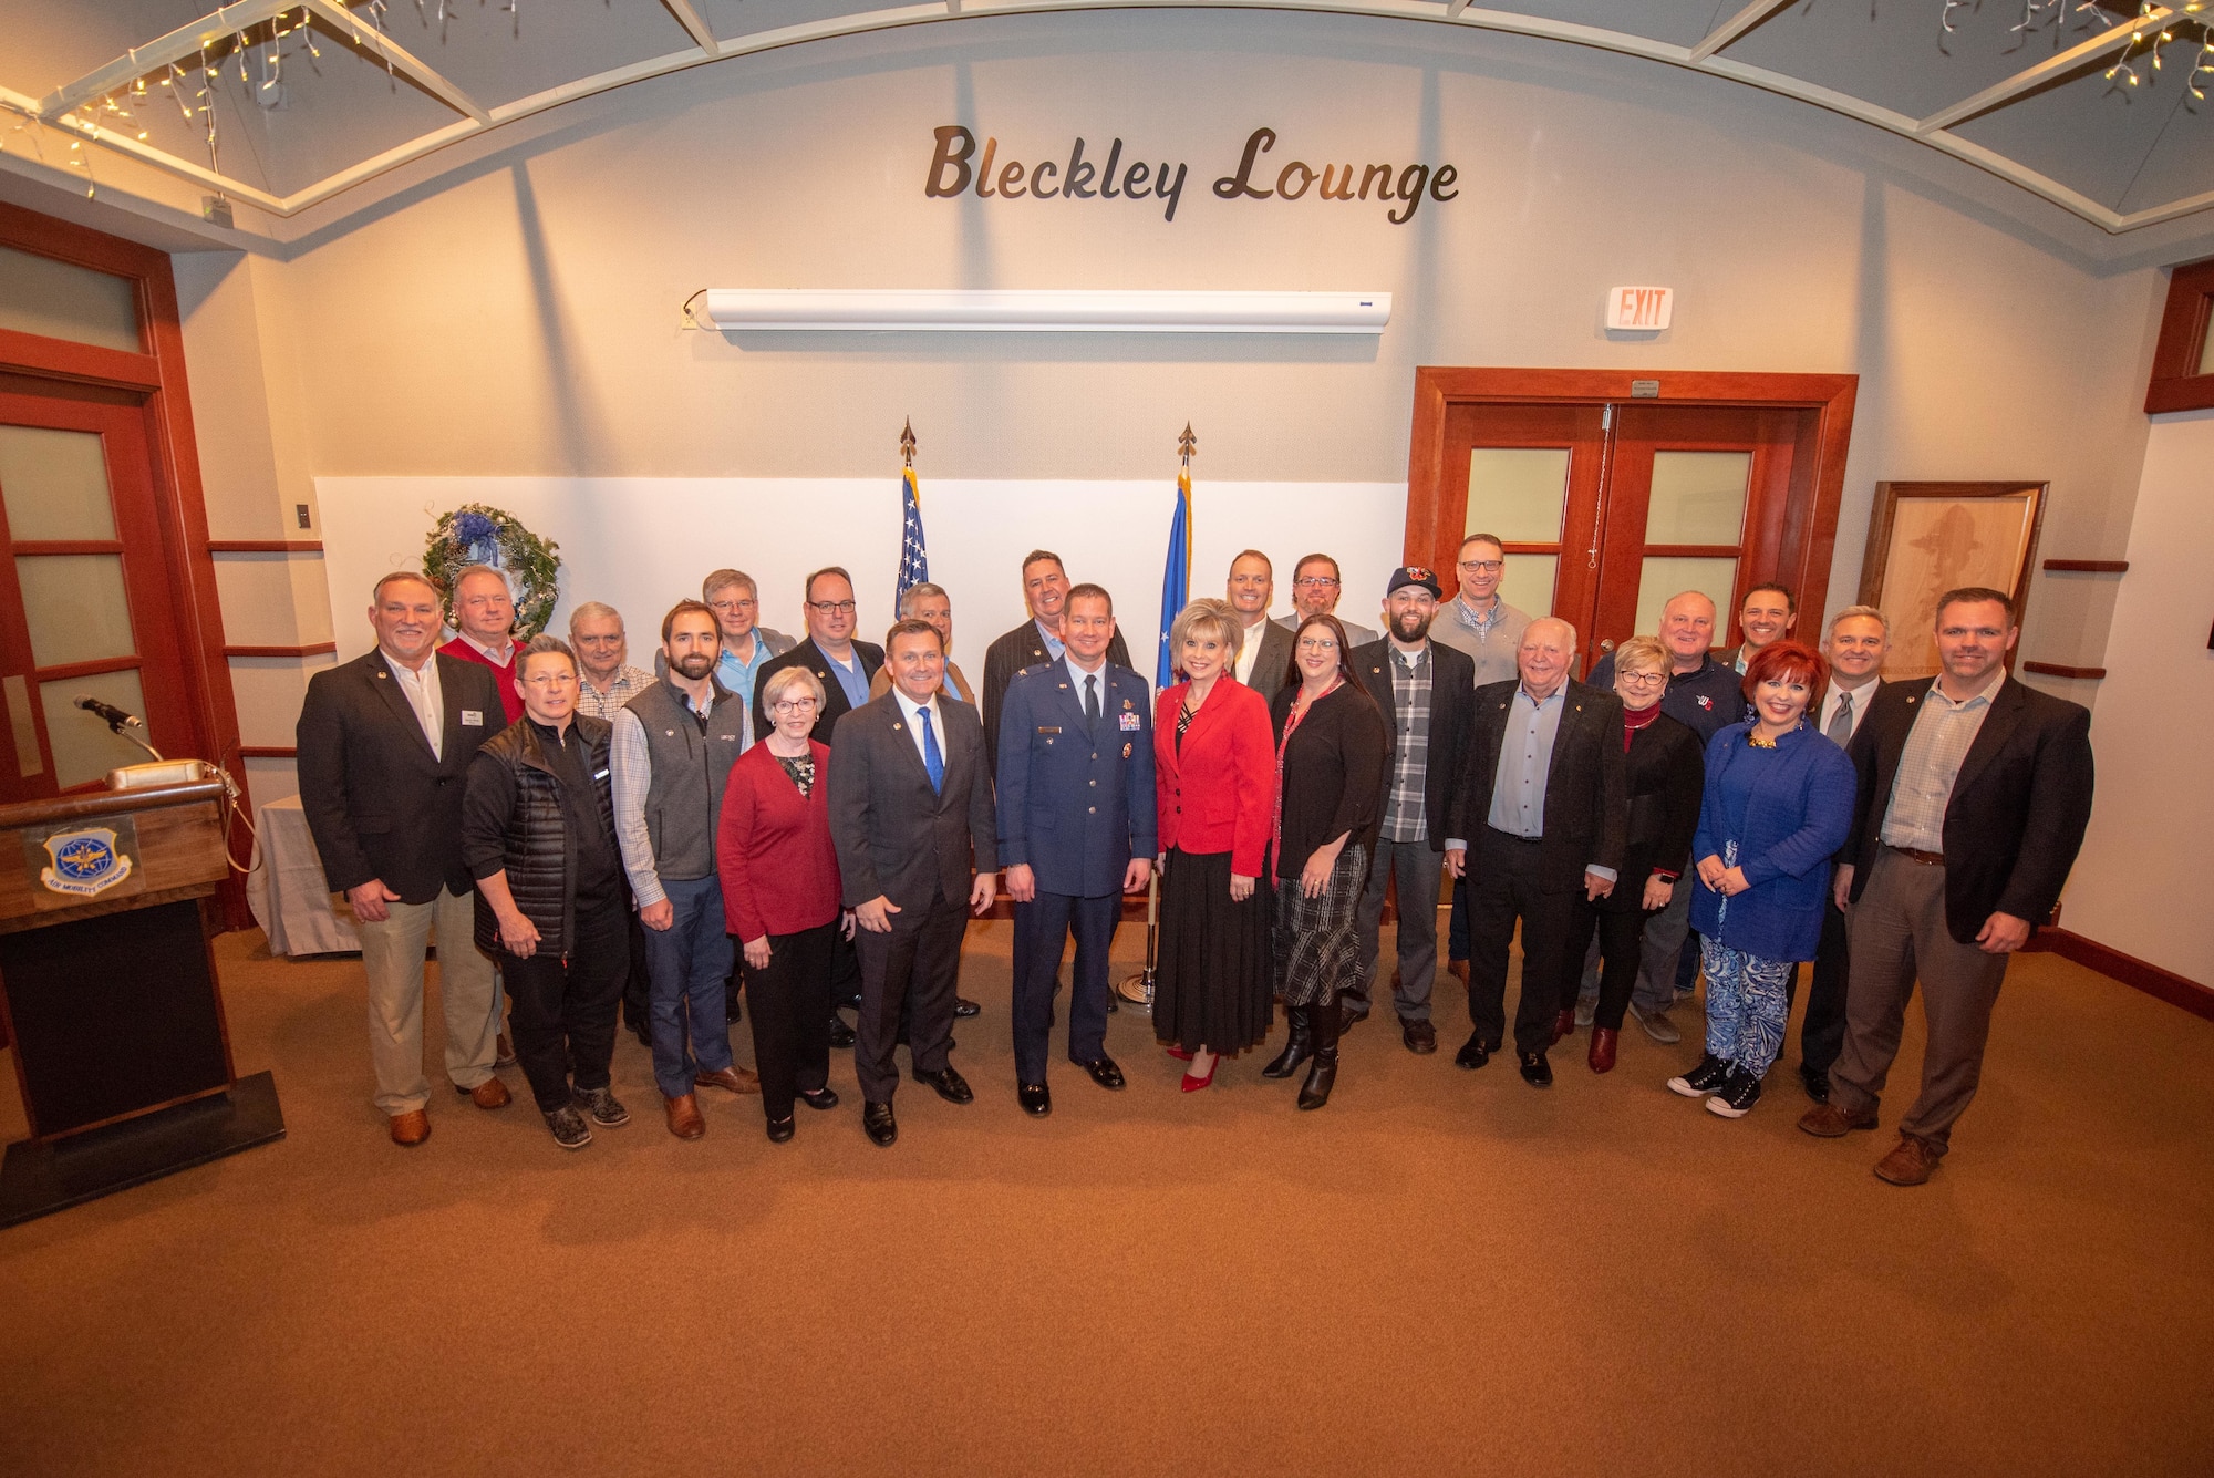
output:
[[[992,907],[999,825],[976,710],[945,697],[937,626],[908,620],[888,637],[892,690],[839,719],[830,761],[830,839],[861,951],[855,1075],[861,1128],[892,1144],[901,1009],[914,1080],[952,1104],[974,1100],[948,1060],[954,976],[968,909]],[[974,881],[972,881],[974,874]]]

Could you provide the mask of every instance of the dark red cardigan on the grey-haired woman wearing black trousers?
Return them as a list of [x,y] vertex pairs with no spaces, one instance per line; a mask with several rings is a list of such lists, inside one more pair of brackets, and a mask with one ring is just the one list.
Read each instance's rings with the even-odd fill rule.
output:
[[739,943],[817,929],[839,916],[830,746],[810,739],[808,748],[815,790],[806,799],[766,741],[737,757],[722,790],[715,870],[722,874],[722,923]]

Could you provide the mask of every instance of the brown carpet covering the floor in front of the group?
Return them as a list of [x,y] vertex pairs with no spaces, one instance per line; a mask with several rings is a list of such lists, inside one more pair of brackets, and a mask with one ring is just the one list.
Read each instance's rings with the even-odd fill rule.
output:
[[394,1148],[359,965],[224,938],[290,1137],[0,1232],[0,1474],[2214,1471],[2214,1022],[2021,958],[1895,1190],[1908,1095],[1809,1139],[1793,1051],[1725,1122],[1663,1089],[1696,1013],[1537,1093],[1452,1066],[1444,991],[1444,1051],[1386,1011],[1322,1113],[1260,1055],[1178,1093],[1125,1011],[1131,1086],[1056,1049],[1027,1122],[1007,940],[970,938],[979,1102],[910,1082],[892,1151],[850,1055],[793,1144],[722,1095],[680,1144],[622,1038],[635,1120],[569,1155],[518,1073]]

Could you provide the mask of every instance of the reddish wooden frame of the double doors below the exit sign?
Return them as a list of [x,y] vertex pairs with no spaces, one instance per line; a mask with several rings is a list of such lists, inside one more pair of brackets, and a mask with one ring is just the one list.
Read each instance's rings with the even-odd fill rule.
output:
[[[1658,383],[1658,396],[1632,394],[1632,383]],[[1446,473],[1446,418],[1457,405],[1731,405],[1747,409],[1807,409],[1813,425],[1791,458],[1791,496],[1771,538],[1747,547],[1800,544],[1789,569],[1753,571],[1780,580],[1798,595],[1800,613],[1820,622],[1829,602],[1829,564],[1838,551],[1838,509],[1844,500],[1844,451],[1853,438],[1858,374],[1731,374],[1714,370],[1415,370],[1415,429],[1406,456],[1406,562],[1450,569],[1457,551],[1437,551],[1439,489]],[[1720,622],[1729,633],[1736,613]]]

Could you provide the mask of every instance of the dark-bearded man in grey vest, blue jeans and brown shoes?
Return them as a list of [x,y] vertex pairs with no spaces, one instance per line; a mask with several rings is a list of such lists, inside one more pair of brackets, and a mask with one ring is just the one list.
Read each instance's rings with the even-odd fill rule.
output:
[[759,1093],[731,1058],[724,989],[731,936],[715,872],[715,821],[731,766],[746,748],[746,710],[715,679],[722,633],[715,613],[680,600],[662,617],[669,677],[615,715],[615,836],[646,929],[653,1082],[669,1133],[706,1133],[693,1089]]

